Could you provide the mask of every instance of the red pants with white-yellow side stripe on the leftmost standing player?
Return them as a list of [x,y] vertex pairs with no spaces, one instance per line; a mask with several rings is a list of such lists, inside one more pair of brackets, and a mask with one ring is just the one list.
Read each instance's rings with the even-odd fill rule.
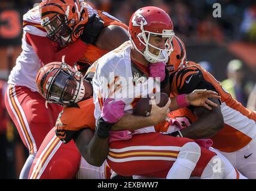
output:
[[29,153],[37,152],[62,110],[57,104],[48,104],[47,109],[45,99],[38,92],[19,85],[8,85],[5,105]]

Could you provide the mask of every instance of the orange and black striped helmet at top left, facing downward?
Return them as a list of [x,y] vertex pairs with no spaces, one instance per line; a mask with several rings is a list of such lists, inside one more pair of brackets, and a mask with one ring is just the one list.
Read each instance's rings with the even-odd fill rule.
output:
[[70,38],[74,26],[81,20],[81,0],[45,0],[39,4],[41,25],[47,37],[62,47]]

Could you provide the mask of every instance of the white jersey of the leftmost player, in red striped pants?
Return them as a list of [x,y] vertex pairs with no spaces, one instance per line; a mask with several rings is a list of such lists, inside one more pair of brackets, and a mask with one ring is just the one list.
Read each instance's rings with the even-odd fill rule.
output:
[[37,91],[35,77],[42,64],[32,46],[26,41],[26,33],[46,38],[47,33],[40,22],[39,6],[29,10],[23,16],[22,53],[16,60],[16,66],[11,70],[8,84],[21,85]]

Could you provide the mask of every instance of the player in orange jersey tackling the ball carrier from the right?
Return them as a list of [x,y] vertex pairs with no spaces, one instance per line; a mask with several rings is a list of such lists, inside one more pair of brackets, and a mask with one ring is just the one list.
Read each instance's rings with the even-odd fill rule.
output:
[[[234,100],[220,83],[192,61],[186,62],[185,46],[177,36],[173,38],[173,53],[170,55],[170,97],[186,94],[198,88],[217,91],[220,99],[210,98],[218,104],[212,110],[201,106],[188,106],[169,113],[169,118],[182,124],[181,130],[172,135],[198,139],[211,138],[218,149],[243,175],[256,178],[256,112],[246,109]],[[167,131],[169,123],[157,131]],[[173,130],[172,130],[173,131]]]

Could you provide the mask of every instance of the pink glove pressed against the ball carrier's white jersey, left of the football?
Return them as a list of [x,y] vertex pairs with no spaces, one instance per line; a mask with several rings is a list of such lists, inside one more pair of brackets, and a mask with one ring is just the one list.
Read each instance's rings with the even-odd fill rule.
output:
[[113,101],[114,98],[107,98],[102,107],[100,116],[105,122],[115,124],[118,120],[124,116],[125,103],[122,100]]

